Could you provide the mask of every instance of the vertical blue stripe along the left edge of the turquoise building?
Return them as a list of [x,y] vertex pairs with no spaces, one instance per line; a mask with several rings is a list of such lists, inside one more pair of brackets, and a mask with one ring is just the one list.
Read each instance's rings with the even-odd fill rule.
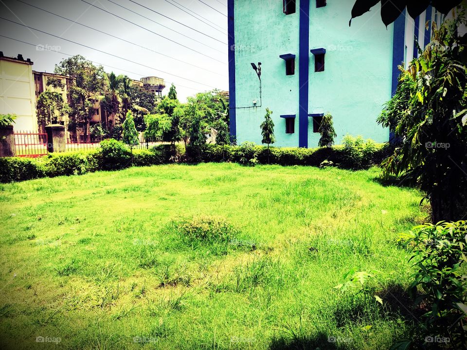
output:
[[229,118],[230,139],[234,141],[237,135],[236,102],[235,102],[235,27],[234,27],[234,0],[227,3],[227,26],[229,45]]

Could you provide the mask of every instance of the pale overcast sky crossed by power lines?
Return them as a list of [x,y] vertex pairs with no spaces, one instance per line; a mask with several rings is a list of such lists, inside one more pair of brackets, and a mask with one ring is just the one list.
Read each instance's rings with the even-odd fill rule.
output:
[[0,36],[0,51],[30,58],[33,70],[53,72],[80,54],[106,72],[163,78],[163,94],[174,83],[182,102],[228,90],[227,0],[0,0],[0,9],[0,35],[9,37]]

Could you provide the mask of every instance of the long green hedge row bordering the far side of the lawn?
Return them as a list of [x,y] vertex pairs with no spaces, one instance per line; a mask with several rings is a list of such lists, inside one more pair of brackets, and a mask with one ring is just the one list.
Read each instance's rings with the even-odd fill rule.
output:
[[[354,139],[355,140],[355,139]],[[358,139],[357,139],[358,140]],[[51,153],[40,158],[0,158],[0,182],[23,181],[39,177],[81,175],[98,170],[119,170],[130,166],[150,166],[177,162],[238,162],[244,165],[280,164],[320,166],[323,162],[346,169],[366,169],[385,157],[382,145],[372,141],[332,148],[276,148],[255,146],[206,145],[202,149],[160,145],[149,150],[133,150],[116,140],[105,140],[88,152]],[[269,161],[268,161],[269,159]]]

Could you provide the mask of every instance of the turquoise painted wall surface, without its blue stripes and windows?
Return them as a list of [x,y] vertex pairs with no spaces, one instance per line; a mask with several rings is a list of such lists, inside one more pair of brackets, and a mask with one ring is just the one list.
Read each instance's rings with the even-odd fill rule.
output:
[[[325,71],[314,71],[309,53],[308,113],[330,112],[340,143],[346,134],[362,135],[378,142],[389,139],[389,131],[376,123],[383,104],[391,98],[393,27],[386,29],[379,8],[348,21],[353,1],[328,0],[316,8],[310,0],[309,48],[324,48]],[[282,0],[234,0],[236,139],[238,143],[261,143],[260,123],[265,108],[272,111],[276,146],[299,144],[299,1],[295,14],[285,15]],[[295,74],[286,76],[279,55],[292,53]],[[262,63],[262,105],[259,80],[251,62]],[[285,133],[281,115],[295,114],[295,133]],[[320,136],[308,123],[308,147],[316,147]]]

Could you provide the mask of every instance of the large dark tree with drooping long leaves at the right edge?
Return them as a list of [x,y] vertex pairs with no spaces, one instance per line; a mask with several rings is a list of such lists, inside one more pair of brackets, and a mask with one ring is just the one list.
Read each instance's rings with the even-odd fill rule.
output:
[[[395,123],[400,147],[382,164],[383,176],[417,181],[431,203],[431,219],[462,220],[467,211],[467,36],[447,20],[408,70],[379,123]],[[404,108],[397,111],[396,108]]]

